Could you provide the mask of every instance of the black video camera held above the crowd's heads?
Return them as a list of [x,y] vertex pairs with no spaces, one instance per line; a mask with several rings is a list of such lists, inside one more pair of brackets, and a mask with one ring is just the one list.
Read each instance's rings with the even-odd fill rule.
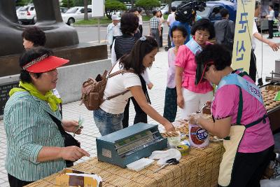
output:
[[183,1],[175,12],[175,19],[179,22],[187,22],[189,25],[193,24],[195,20],[196,11],[204,11],[206,3],[204,1]]

